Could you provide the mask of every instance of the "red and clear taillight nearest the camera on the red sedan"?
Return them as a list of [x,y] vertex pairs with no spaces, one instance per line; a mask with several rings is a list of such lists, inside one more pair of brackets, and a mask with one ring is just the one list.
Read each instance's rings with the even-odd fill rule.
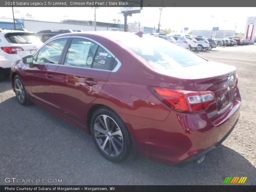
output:
[[148,89],[165,105],[178,112],[206,110],[216,102],[211,91],[184,91],[162,87],[148,87]]

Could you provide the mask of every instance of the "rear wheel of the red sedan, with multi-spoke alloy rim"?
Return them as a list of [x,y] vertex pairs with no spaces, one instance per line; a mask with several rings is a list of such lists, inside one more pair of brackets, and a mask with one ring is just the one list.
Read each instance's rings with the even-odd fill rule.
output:
[[120,163],[129,157],[130,134],[113,110],[99,108],[92,116],[91,132],[95,146],[108,160]]

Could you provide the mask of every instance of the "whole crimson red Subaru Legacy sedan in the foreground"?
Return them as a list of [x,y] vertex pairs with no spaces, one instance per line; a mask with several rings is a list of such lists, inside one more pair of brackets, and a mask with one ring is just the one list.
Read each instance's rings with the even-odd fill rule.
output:
[[201,162],[232,131],[241,97],[236,68],[157,37],[69,33],[48,40],[11,70],[30,101],[90,133],[100,153],[169,165]]

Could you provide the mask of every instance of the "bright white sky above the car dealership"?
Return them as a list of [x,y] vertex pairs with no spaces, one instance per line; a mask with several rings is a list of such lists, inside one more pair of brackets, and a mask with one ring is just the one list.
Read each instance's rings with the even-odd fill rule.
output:
[[[14,7],[15,17],[26,13],[34,16],[35,20],[60,22],[64,19],[94,20],[94,9],[91,7]],[[96,9],[96,20],[113,22],[124,17],[119,7],[100,7]],[[141,13],[128,16],[129,22],[140,22],[145,27],[158,27],[160,10],[158,7],[144,7]],[[0,17],[12,18],[11,7],[0,7]],[[184,27],[188,30],[235,30],[244,33],[246,18],[256,16],[255,7],[164,7],[161,16],[161,28],[171,28],[180,32]]]

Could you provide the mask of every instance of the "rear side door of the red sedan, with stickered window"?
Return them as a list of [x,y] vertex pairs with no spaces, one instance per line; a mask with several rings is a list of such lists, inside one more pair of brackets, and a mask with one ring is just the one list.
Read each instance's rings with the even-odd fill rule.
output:
[[106,84],[115,56],[83,37],[72,38],[65,55],[55,71],[57,106],[60,113],[83,124],[85,109]]

